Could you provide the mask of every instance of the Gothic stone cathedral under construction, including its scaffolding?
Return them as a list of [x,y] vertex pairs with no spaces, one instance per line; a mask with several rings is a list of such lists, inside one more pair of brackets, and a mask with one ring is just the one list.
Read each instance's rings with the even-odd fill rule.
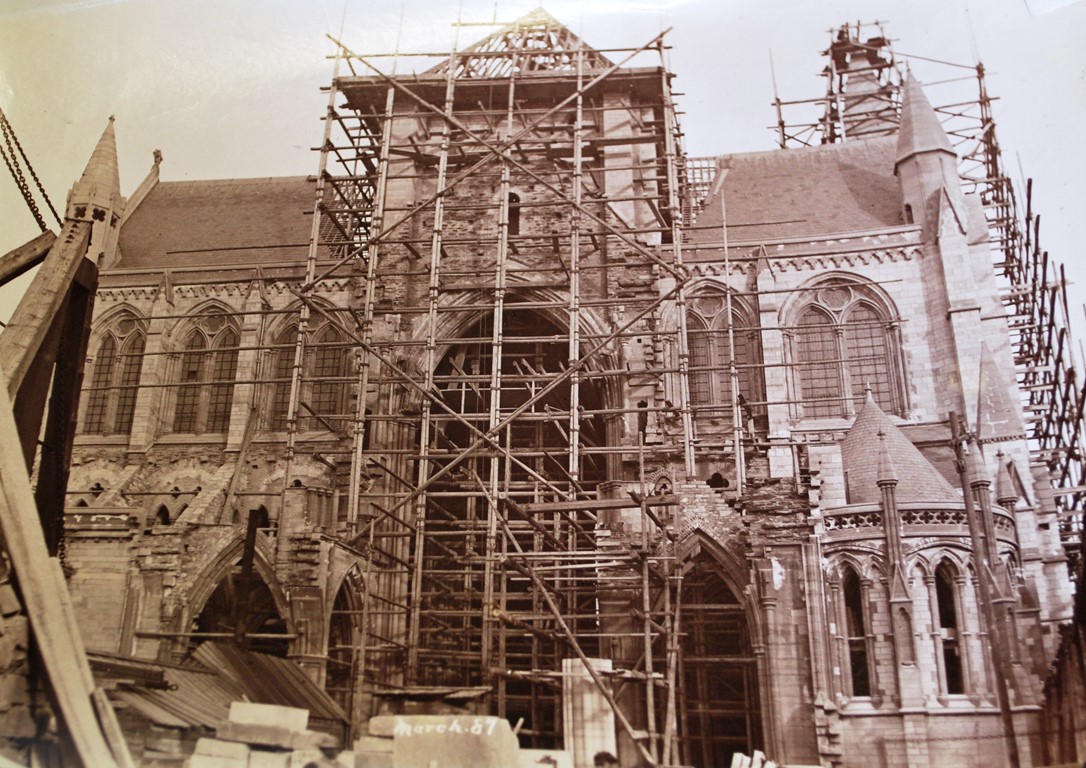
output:
[[156,156],[125,198],[111,123],[67,209],[88,651],[289,660],[346,744],[466,713],[578,768],[1052,765],[1068,496],[993,198],[856,33],[821,140],[765,152],[687,158],[662,37],[542,10],[409,75],[337,43],[313,176]]

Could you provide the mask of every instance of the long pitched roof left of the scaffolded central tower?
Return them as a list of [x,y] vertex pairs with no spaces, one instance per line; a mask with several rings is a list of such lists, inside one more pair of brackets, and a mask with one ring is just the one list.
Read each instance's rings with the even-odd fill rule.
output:
[[315,182],[282,178],[160,181],[121,229],[118,268],[304,260]]

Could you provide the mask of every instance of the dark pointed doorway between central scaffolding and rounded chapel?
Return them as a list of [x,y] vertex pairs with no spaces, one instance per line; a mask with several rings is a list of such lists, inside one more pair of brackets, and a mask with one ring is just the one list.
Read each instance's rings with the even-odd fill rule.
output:
[[729,766],[733,753],[763,746],[758,669],[745,607],[706,553],[685,567],[681,631],[683,764]]

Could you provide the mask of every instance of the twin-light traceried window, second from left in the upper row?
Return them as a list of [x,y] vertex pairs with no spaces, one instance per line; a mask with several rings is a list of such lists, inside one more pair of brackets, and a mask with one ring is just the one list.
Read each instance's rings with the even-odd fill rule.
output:
[[225,315],[199,318],[182,345],[173,431],[225,432],[238,369],[238,331]]

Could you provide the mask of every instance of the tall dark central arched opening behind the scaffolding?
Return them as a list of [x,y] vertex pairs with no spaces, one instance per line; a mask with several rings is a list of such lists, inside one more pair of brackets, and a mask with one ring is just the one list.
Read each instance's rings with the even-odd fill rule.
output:
[[[605,455],[593,451],[605,441],[594,413],[601,395],[591,380],[576,389],[571,378],[556,381],[569,366],[569,336],[543,313],[510,302],[501,343],[493,338],[488,315],[434,369],[439,396],[459,418],[433,408],[426,461],[418,465],[419,484],[441,475],[426,495],[413,671],[421,685],[491,687],[490,710],[522,719],[522,744],[553,747],[560,745],[557,673],[569,649],[542,590],[568,617],[582,650],[597,655],[595,584],[572,578],[568,561],[558,565],[563,553],[594,551],[594,518],[522,509],[595,495],[605,478]],[[577,430],[571,412],[580,415]],[[493,442],[471,448],[480,432],[503,421]],[[492,515],[495,504],[501,523]],[[518,570],[529,561],[544,586]]]

